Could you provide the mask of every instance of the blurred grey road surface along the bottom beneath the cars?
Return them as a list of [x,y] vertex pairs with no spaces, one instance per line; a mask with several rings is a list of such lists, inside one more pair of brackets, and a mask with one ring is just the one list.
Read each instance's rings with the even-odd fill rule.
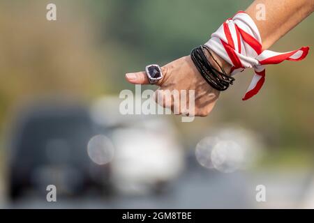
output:
[[[299,208],[305,174],[222,174],[202,167],[188,167],[161,194],[114,195],[111,198],[57,199],[56,203],[24,199],[3,203],[1,208]],[[255,187],[267,187],[267,201],[255,201]]]

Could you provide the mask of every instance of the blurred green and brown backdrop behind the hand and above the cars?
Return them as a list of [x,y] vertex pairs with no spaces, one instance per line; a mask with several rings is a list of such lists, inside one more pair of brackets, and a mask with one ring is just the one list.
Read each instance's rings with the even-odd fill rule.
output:
[[[57,5],[57,21],[45,19],[47,3]],[[62,95],[91,102],[99,95],[134,90],[126,72],[149,63],[165,64],[205,43],[211,33],[251,1],[67,0],[0,2],[1,145],[15,107],[35,98]],[[271,49],[313,47],[314,17],[299,24]],[[208,128],[225,123],[256,132],[266,147],[257,169],[310,167],[314,158],[314,54],[299,63],[267,67],[267,81],[255,98],[241,100],[253,75],[236,76],[214,111],[193,123],[173,116],[186,148]],[[154,88],[145,86],[145,88]],[[6,155],[1,150],[1,164]]]

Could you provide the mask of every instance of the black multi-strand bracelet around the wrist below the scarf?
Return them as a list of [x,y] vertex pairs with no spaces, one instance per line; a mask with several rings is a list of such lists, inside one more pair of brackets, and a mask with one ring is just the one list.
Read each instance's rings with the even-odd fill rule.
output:
[[[209,59],[207,59],[205,50],[209,52],[209,55],[218,65],[221,72],[211,65]],[[223,70],[223,68],[219,65],[216,59],[214,59],[214,56],[211,54],[207,46],[204,45],[196,47],[192,50],[190,57],[195,64],[197,70],[212,88],[218,91],[225,91],[230,86],[230,84],[233,84],[234,78],[226,74],[225,70]]]

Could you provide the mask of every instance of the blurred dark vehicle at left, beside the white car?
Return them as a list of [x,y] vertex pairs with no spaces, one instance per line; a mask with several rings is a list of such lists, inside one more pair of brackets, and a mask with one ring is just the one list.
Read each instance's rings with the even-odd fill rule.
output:
[[58,197],[108,194],[110,166],[87,154],[96,133],[84,106],[45,102],[21,109],[8,151],[10,199],[45,199],[47,185],[57,187]]

